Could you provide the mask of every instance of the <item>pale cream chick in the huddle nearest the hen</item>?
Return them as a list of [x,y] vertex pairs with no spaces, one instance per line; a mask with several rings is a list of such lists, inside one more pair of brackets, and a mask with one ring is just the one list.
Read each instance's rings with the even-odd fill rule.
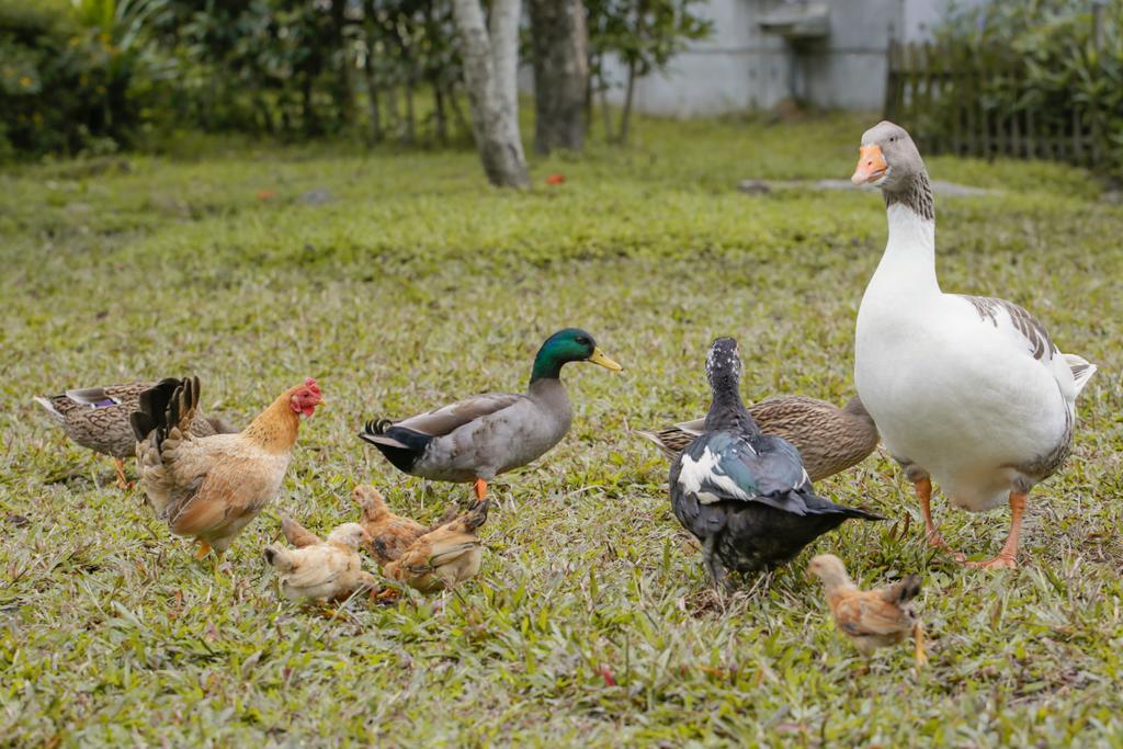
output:
[[358,523],[339,526],[326,541],[289,518],[282,520],[282,529],[298,548],[271,544],[264,555],[281,574],[281,592],[286,599],[332,601],[378,586],[373,575],[363,572],[358,547],[371,537]]

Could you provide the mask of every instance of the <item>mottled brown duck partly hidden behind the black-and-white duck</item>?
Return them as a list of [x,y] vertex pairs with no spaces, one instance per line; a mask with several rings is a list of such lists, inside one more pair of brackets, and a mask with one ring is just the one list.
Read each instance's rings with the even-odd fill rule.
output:
[[[811,481],[820,481],[865,460],[877,449],[877,427],[857,395],[841,409],[806,395],[774,395],[749,407],[766,435],[783,437],[800,450]],[[639,433],[672,460],[705,428],[705,419]]]

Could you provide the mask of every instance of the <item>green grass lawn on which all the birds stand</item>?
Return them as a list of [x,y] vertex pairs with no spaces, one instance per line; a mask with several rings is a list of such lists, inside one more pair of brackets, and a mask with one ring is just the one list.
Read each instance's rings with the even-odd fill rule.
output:
[[[937,199],[944,289],[1024,304],[1101,367],[1068,465],[1031,497],[1023,567],[930,552],[885,455],[820,485],[913,517],[903,539],[851,522],[811,548],[862,584],[924,576],[922,673],[905,646],[862,669],[810,554],[715,601],[667,463],[631,433],[704,412],[722,334],[747,398],[851,393],[880,199],[733,188],[846,179],[869,124],[642,120],[627,150],[536,161],[524,193],[487,189],[472,153],[344,146],[0,175],[0,742],[1120,746],[1123,209],[1086,173],[929,159],[1004,191]],[[330,201],[302,201],[317,189]],[[421,519],[468,496],[396,473],[356,439],[366,419],[521,390],[569,325],[626,372],[565,369],[573,430],[496,483],[477,579],[335,621],[279,597],[261,557],[277,513],[325,532],[356,517],[356,482]],[[329,400],[217,575],[31,402],[188,373],[238,421],[309,375]],[[978,558],[1007,531],[1006,511],[935,512]]]

